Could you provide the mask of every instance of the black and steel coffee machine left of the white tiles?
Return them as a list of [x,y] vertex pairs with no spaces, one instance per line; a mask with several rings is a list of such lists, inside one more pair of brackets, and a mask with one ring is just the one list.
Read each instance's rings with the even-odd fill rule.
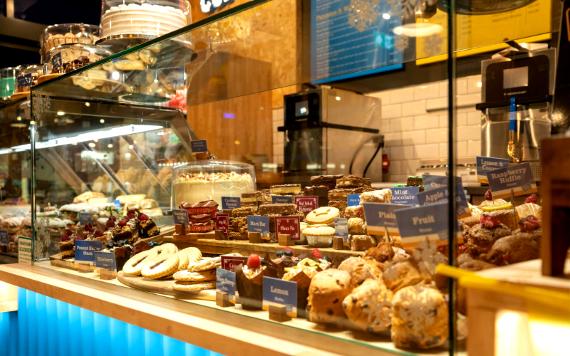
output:
[[284,97],[284,175],[355,174],[382,181],[380,99],[327,86]]

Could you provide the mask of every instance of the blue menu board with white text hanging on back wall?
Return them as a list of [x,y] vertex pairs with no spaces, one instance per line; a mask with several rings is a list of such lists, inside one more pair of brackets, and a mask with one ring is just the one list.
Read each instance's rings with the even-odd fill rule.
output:
[[[315,84],[403,68],[401,25],[388,0],[311,0],[311,80]],[[398,43],[397,43],[398,42]]]

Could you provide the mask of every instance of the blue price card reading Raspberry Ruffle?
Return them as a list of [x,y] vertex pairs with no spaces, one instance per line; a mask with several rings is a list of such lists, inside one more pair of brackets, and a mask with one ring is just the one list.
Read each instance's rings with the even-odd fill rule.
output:
[[536,193],[537,187],[532,179],[532,171],[528,162],[512,164],[487,173],[493,198],[508,197]]

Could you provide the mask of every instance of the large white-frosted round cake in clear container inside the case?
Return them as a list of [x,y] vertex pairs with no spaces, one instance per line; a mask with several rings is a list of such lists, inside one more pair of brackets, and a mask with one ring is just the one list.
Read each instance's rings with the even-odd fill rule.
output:
[[172,194],[174,208],[180,203],[241,197],[255,191],[255,170],[247,163],[231,161],[197,161],[174,170]]

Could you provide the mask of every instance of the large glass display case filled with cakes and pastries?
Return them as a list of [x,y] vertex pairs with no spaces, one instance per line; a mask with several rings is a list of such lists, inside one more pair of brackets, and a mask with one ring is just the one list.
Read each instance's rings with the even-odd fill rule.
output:
[[[505,195],[462,169],[493,139],[481,60],[518,68],[555,27],[550,1],[470,3],[238,1],[32,87],[6,152],[31,155],[35,265],[321,351],[465,353],[465,291],[437,266],[536,259],[542,234],[535,180]],[[103,37],[132,34],[109,32],[142,6],[121,4]],[[526,103],[484,104],[525,130]]]

